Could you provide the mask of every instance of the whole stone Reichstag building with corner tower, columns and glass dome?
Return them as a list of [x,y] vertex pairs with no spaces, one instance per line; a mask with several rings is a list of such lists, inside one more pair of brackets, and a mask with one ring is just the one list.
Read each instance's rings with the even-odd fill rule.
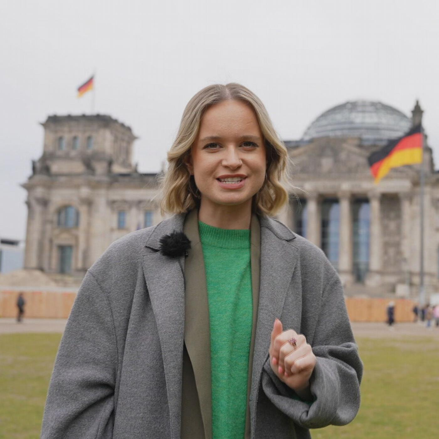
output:
[[[418,294],[420,165],[374,184],[367,157],[421,119],[418,103],[407,117],[381,102],[346,102],[285,141],[295,188],[279,218],[322,248],[348,295]],[[108,115],[53,115],[42,126],[43,154],[23,184],[25,268],[80,279],[112,241],[162,220],[159,174],[137,171],[135,135]],[[427,136],[424,169],[428,297],[439,289],[439,173]]]

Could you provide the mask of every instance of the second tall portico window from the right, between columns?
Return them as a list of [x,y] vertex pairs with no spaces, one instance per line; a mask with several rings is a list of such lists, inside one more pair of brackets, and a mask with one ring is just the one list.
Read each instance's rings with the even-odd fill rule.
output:
[[340,204],[337,199],[322,202],[322,250],[335,268],[338,268],[338,244],[340,241]]

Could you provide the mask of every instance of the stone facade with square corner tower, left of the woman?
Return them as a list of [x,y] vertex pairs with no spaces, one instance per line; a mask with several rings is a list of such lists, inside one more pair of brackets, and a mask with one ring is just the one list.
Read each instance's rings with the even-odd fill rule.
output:
[[[50,116],[42,125],[43,155],[23,185],[28,191],[25,268],[80,276],[113,241],[144,227],[145,212],[151,212],[151,224],[162,220],[158,174],[137,172],[136,137],[109,116]],[[73,222],[60,218],[65,208]],[[125,212],[123,223],[119,212]]]

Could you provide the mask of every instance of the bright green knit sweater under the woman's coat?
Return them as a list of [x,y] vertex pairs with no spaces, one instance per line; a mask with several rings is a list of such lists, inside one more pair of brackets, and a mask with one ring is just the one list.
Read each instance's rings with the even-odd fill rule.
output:
[[242,439],[252,338],[250,230],[199,222],[209,299],[212,437]]

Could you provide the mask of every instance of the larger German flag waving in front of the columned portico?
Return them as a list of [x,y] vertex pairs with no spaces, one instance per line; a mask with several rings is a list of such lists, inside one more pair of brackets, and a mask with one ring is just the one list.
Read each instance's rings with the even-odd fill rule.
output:
[[375,183],[392,168],[422,163],[422,143],[421,125],[418,125],[403,137],[389,140],[383,148],[373,152],[368,160]]

